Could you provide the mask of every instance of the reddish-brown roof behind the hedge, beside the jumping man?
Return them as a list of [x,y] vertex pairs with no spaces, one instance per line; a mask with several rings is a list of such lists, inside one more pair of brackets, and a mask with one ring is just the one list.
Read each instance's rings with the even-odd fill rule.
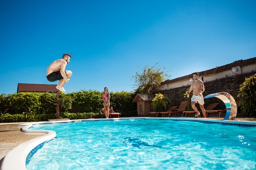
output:
[[18,83],[17,93],[19,92],[57,92],[57,85],[54,84],[25,84]]

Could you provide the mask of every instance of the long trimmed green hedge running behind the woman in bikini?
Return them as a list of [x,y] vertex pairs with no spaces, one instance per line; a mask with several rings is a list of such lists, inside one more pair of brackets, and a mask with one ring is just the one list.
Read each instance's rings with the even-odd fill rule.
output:
[[[137,105],[132,103],[135,93],[110,92],[110,106],[121,117],[137,116]],[[87,119],[101,117],[102,92],[83,90],[59,93],[60,117]],[[0,122],[47,121],[56,118],[56,94],[15,93],[0,95]]]

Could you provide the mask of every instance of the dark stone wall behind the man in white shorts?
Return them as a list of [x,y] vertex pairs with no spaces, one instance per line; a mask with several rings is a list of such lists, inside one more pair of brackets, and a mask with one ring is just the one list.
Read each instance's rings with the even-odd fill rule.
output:
[[[250,77],[254,75],[256,72],[252,73],[246,73],[246,74],[240,74],[240,75],[234,75],[231,77],[226,77],[222,79],[216,79],[211,82],[204,82],[204,88],[207,93],[207,95],[212,93],[218,93],[218,92],[227,92],[230,95],[234,97],[236,101],[238,101],[238,92],[240,85],[245,82],[245,77]],[[165,91],[161,91],[160,93],[167,95],[171,100],[172,106],[180,106],[180,102],[186,101],[186,97],[184,98],[184,94],[186,90],[190,87],[189,86],[183,86],[179,88],[173,88]],[[220,103],[216,109],[224,109],[225,104],[218,98],[213,97],[208,99],[209,103]]]

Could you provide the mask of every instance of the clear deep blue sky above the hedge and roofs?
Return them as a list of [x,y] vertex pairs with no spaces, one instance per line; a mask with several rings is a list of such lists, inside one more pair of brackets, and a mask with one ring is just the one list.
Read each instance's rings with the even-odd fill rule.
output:
[[133,91],[137,67],[158,62],[171,79],[256,57],[255,0],[4,0],[0,94],[48,82],[72,53],[67,93]]

